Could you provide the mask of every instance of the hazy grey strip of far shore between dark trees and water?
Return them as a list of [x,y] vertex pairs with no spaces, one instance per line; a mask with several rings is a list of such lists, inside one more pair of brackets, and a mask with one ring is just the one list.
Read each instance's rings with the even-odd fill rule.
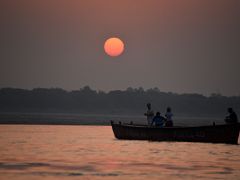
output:
[[[109,126],[110,121],[146,124],[143,115],[71,114],[71,113],[20,113],[0,112],[0,124],[9,125],[97,125]],[[221,117],[175,116],[174,123],[181,126],[200,126],[224,123]]]

